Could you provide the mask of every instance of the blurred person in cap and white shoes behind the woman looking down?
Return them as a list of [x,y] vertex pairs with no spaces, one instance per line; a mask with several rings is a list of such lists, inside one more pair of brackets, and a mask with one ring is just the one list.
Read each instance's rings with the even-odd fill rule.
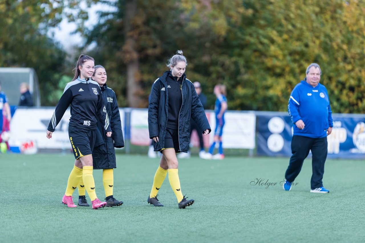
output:
[[[205,105],[207,105],[207,97],[205,97],[205,95],[201,92],[201,86],[199,82],[194,82],[193,85],[196,94],[198,95],[199,100],[201,102],[201,105],[203,105],[203,108],[205,109]],[[198,124],[196,124],[196,122],[193,119],[190,119],[190,140],[193,130],[196,130],[199,137],[199,146],[200,146],[199,157],[203,158],[205,154],[203,134],[200,132],[201,129],[199,128]],[[190,158],[190,151],[188,151],[188,153],[178,154],[178,158]]]

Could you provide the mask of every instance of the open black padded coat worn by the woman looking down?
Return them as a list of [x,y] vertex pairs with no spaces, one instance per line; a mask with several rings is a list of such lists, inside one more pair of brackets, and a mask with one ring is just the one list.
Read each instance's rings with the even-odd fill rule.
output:
[[[151,97],[148,105],[148,129],[150,138],[158,137],[158,142],[153,143],[155,151],[159,151],[165,146],[169,107],[166,77],[169,72],[170,71],[164,72],[164,75],[156,79],[152,85]],[[183,84],[181,86],[183,104],[181,105],[179,118],[176,122],[178,123],[179,150],[180,152],[187,152],[190,143],[190,119],[193,118],[198,124],[201,133],[206,129],[209,129],[209,132],[211,132],[211,128],[193,83],[186,78],[185,74],[181,78],[183,79]]]

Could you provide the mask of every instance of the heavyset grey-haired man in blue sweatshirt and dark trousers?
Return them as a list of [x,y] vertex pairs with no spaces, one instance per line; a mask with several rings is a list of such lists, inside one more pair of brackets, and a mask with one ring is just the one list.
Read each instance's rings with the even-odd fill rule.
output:
[[311,191],[328,193],[323,187],[324,162],[327,158],[327,136],[332,132],[332,111],[326,87],[320,84],[320,67],[312,63],[306,78],[290,94],[288,112],[295,126],[292,138],[292,157],[285,172],[285,191],[298,176],[304,159],[312,151]]

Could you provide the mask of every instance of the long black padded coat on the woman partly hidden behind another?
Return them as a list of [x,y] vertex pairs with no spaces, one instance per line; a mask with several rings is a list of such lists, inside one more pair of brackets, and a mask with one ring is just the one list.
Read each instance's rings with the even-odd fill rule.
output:
[[107,137],[104,125],[98,121],[97,129],[103,137],[104,143],[101,146],[95,146],[92,152],[94,169],[112,169],[116,168],[115,148],[123,148],[123,132],[122,122],[120,121],[120,113],[118,103],[114,91],[104,84],[101,88],[101,96],[104,99],[107,114],[109,116],[112,136]]

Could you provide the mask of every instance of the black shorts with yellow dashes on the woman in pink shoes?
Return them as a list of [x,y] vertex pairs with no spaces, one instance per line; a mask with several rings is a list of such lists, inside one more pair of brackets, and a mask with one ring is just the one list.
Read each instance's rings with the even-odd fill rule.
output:
[[78,160],[82,156],[92,154],[95,145],[96,130],[83,130],[69,125],[69,138],[73,155]]

